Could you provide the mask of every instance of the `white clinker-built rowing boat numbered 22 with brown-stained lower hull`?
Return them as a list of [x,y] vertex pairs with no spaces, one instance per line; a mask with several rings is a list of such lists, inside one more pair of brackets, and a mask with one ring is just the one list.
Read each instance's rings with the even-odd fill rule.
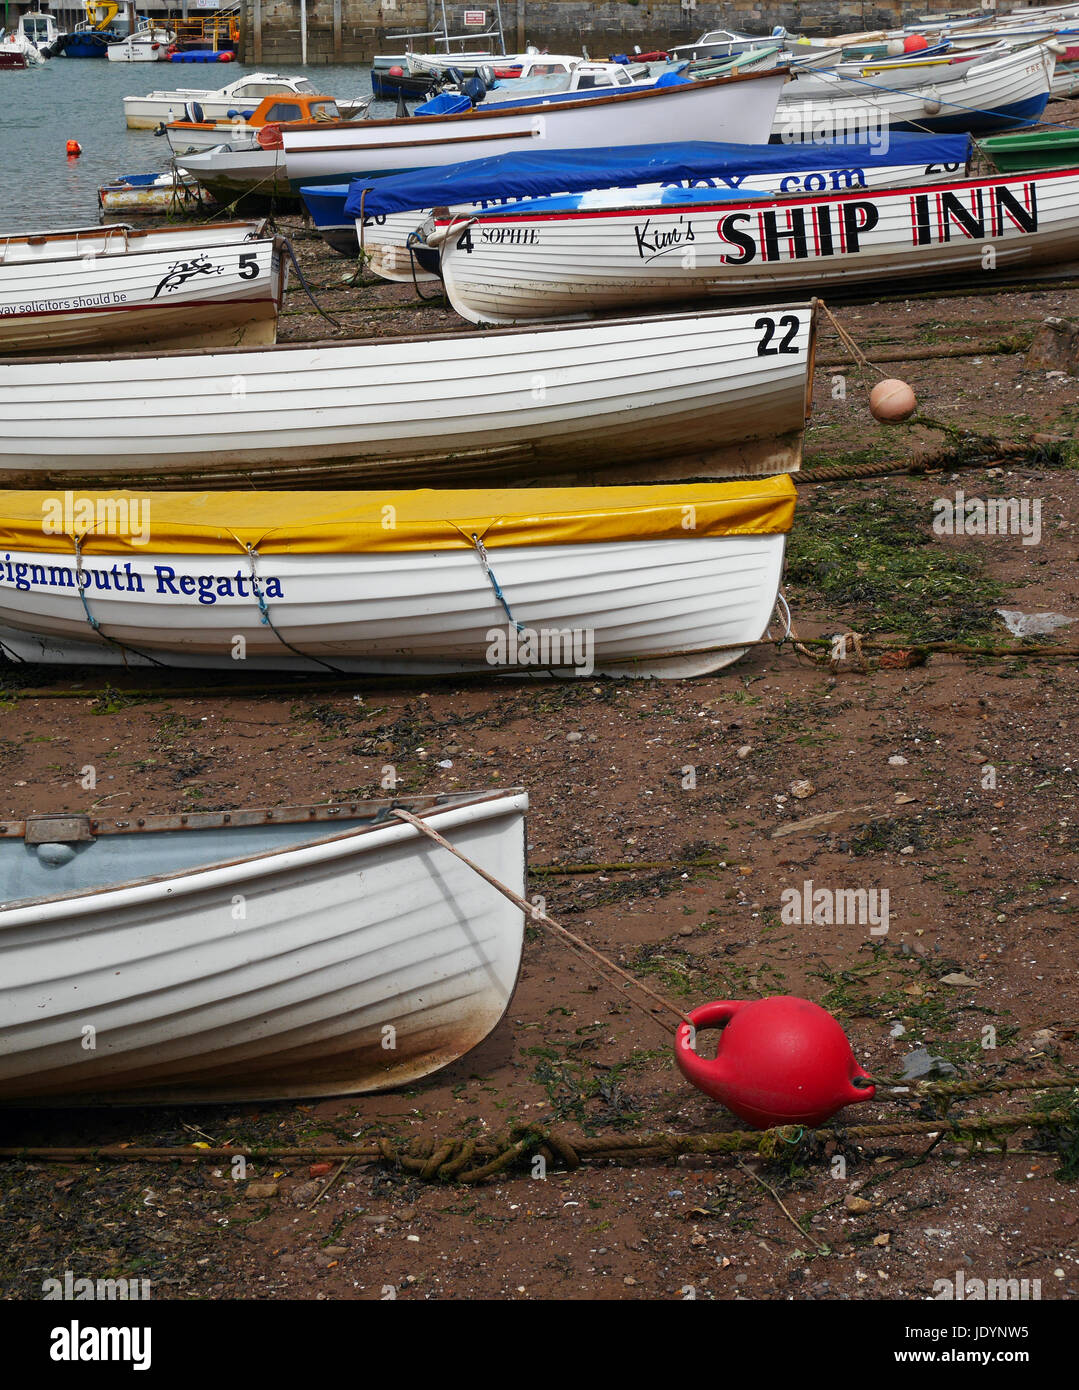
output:
[[815,306],[776,313],[787,342],[780,354],[759,350],[759,310],[720,310],[0,363],[0,484],[281,488],[324,478],[437,485],[779,473],[801,460]]

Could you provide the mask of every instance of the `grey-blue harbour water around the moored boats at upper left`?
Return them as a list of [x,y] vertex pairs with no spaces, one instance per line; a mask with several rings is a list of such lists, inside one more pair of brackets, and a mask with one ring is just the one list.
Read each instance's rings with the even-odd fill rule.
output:
[[[36,68],[0,72],[0,235],[99,221],[97,189],[118,174],[165,170],[168,142],[129,131],[124,97],[179,88],[218,89],[254,68],[238,63],[108,63],[50,58]],[[366,96],[367,67],[288,68],[306,72],[330,96]],[[392,115],[380,103],[377,114]],[[82,154],[68,157],[67,142]]]

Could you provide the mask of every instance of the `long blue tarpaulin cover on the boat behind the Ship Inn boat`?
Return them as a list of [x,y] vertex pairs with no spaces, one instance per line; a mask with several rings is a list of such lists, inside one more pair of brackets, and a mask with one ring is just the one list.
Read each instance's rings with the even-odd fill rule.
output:
[[[463,164],[444,164],[410,174],[355,178],[345,200],[348,217],[407,213],[457,203],[546,197],[592,188],[634,183],[687,183],[720,179],[737,188],[754,174],[801,170],[865,170],[893,164],[952,164],[965,168],[969,135],[894,135],[887,142],[850,140],[834,145],[720,145],[684,140],[676,145],[627,145],[623,149],[528,150],[492,154]],[[364,196],[366,193],[366,196]]]

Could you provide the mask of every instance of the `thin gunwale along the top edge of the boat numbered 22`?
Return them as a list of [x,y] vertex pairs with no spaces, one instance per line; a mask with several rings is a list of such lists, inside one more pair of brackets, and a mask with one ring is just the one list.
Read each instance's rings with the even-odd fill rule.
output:
[[[937,185],[933,185],[934,188]],[[783,309],[809,309],[815,303],[811,299],[801,300],[784,300],[781,304],[769,304],[769,313]],[[286,343],[267,343],[263,348],[167,348],[161,352],[127,352],[127,353],[65,353],[60,357],[46,357],[46,356],[18,356],[18,357],[0,357],[0,367],[33,367],[33,366],[57,366],[64,367],[68,364],[89,363],[89,361],[147,361],[150,359],[174,359],[174,357],[236,357],[249,353],[274,353],[274,352],[325,352],[336,348],[389,348],[395,343],[439,343],[439,342],[460,342],[488,339],[488,338],[508,338],[508,336],[521,336],[524,334],[555,334],[555,332],[580,332],[583,328],[619,328],[627,324],[648,324],[659,328],[662,324],[681,320],[716,320],[716,318],[730,318],[737,314],[749,314],[758,304],[733,307],[729,304],[719,306],[717,309],[690,309],[680,310],[674,314],[620,314],[610,318],[583,318],[576,322],[538,322],[538,324],[514,324],[506,325],[503,328],[487,328],[477,332],[474,328],[453,328],[449,332],[438,334],[403,334],[394,338],[331,338],[331,339],[314,339],[311,342],[286,342]],[[0,392],[3,391],[3,384],[0,384]]]

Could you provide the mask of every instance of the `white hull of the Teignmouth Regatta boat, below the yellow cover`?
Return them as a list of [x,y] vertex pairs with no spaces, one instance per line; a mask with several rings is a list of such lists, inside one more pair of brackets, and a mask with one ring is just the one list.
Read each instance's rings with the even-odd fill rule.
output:
[[[234,671],[239,664],[323,674],[546,676],[553,663],[553,673],[566,677],[699,676],[729,666],[763,635],[784,541],[781,534],[726,535],[492,550],[491,567],[514,621],[540,635],[581,634],[576,664],[569,646],[551,648],[551,637],[548,652],[556,655],[546,664],[514,642],[469,548],[260,556],[263,592],[281,591],[268,599],[270,624],[250,592],[253,562],[239,546],[232,557],[160,555],[150,546],[152,553],[125,556],[118,580],[110,578],[111,557],[86,555],[86,607],[96,628],[78,587],[60,574],[72,571],[70,548],[56,556],[6,550],[0,644],[22,660],[64,664],[153,660]],[[43,570],[46,582],[18,589],[10,574],[35,574],[8,569],[22,564]],[[100,588],[99,574],[108,589]],[[209,577],[228,577],[232,596],[202,602],[200,577],[207,584]]]

